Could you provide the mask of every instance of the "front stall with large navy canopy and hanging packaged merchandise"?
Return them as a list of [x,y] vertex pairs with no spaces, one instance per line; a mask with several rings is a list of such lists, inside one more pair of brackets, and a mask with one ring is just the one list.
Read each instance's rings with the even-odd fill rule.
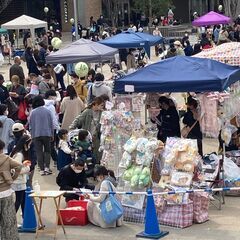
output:
[[[145,104],[156,112],[156,109],[160,111],[158,98],[163,93],[195,92],[194,98],[201,108],[202,133],[217,139],[221,131],[221,139],[229,150],[232,137],[240,127],[240,111],[234,107],[240,104],[238,79],[238,67],[209,59],[174,57],[117,80],[115,108],[110,106],[101,118],[100,150],[103,151],[102,162],[117,173],[118,189],[145,192],[151,186],[155,192],[175,192],[239,186],[236,151],[230,152],[228,157],[214,153],[202,157],[195,139],[170,137],[163,144],[156,138],[155,125],[143,126],[139,114],[146,97],[143,93],[150,95],[150,101]],[[173,102],[176,107],[174,99]],[[183,228],[209,219],[207,192],[156,195],[154,198],[161,224]],[[224,195],[210,194],[210,198],[215,199],[215,205],[221,209]],[[122,204],[125,221],[144,222],[144,195],[123,195]]]

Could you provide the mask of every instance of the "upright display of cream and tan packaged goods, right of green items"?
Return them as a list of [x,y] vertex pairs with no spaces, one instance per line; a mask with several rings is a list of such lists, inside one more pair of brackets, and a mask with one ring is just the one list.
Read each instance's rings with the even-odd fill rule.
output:
[[[193,139],[168,138],[161,154],[164,167],[161,171],[159,186],[165,190],[181,190],[190,188],[195,167],[198,165],[197,141]],[[188,202],[188,194],[163,197],[168,204]]]

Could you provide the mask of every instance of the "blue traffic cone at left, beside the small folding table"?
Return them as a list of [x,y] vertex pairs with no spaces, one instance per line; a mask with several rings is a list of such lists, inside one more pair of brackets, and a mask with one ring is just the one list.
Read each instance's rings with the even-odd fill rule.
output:
[[25,191],[25,207],[24,207],[24,218],[23,225],[18,229],[19,232],[36,232],[37,221],[34,210],[34,204],[32,198],[29,195],[32,193],[30,187],[27,187]]

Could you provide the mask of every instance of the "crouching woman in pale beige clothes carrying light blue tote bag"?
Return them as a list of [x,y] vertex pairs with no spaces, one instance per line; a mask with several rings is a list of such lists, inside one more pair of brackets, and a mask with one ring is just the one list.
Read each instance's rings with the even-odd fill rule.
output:
[[[96,186],[95,191],[110,191],[109,184],[111,184],[113,192],[116,192],[114,187],[113,180],[114,176],[110,176],[109,171],[104,166],[98,166],[95,171],[95,176],[99,184]],[[113,183],[112,183],[113,181]],[[102,203],[106,198],[107,194],[92,195],[86,194],[86,199],[89,199],[88,202],[88,220],[92,224],[99,226],[101,228],[114,228],[120,227],[123,224],[123,218],[119,218],[117,221],[107,224],[101,216],[100,203]]]

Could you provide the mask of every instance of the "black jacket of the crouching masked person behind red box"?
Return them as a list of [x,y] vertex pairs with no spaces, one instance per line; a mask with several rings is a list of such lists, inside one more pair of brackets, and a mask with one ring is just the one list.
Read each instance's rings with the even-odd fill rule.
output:
[[71,164],[65,166],[58,174],[56,182],[60,190],[73,190],[73,188],[83,188],[87,185],[87,177],[85,171],[75,173],[71,168]]

